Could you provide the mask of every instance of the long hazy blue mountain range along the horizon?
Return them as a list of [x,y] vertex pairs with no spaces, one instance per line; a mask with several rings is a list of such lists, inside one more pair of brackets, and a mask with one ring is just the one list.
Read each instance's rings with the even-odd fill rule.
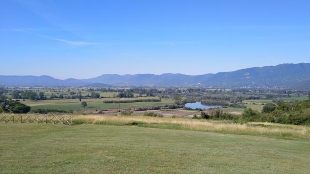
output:
[[186,75],[180,73],[103,74],[90,79],[60,80],[47,75],[0,75],[1,86],[139,86],[139,87],[263,87],[310,89],[310,63],[253,67],[233,72]]

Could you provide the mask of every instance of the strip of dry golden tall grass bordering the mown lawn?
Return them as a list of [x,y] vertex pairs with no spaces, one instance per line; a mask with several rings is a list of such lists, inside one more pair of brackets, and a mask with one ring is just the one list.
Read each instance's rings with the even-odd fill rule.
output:
[[[211,131],[230,134],[259,135],[283,139],[310,139],[310,127],[283,125],[274,123],[250,122],[247,124],[230,121],[195,120],[186,118],[160,118],[151,116],[97,116],[78,115],[73,117],[76,123],[104,125],[178,125],[176,129],[190,131]],[[173,129],[173,127],[172,127]]]

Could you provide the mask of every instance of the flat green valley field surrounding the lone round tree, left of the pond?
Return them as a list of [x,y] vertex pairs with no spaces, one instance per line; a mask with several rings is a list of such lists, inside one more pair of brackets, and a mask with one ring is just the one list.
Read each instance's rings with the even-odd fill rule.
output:
[[[143,99],[154,98],[154,97],[143,97]],[[132,100],[140,98],[127,98],[122,100]],[[35,109],[58,109],[58,110],[104,110],[104,109],[117,109],[118,103],[103,103],[104,100],[118,100],[118,99],[83,99],[82,101],[87,102],[87,107],[83,108],[81,103],[77,99],[68,100],[46,100],[46,101],[22,101],[22,103],[31,106],[31,110]],[[173,104],[173,100],[162,100],[161,102],[131,102],[131,103],[120,103],[120,108],[138,108],[138,107],[152,107],[152,106],[163,106],[165,104]]]

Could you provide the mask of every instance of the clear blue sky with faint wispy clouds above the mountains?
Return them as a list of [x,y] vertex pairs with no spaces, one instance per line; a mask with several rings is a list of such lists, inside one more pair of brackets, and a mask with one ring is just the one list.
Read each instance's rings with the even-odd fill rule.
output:
[[205,74],[310,62],[309,0],[0,0],[0,75]]

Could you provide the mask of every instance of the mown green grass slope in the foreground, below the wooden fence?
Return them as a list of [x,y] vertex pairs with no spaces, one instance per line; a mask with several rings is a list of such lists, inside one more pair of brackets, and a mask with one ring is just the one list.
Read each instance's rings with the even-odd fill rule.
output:
[[310,173],[309,140],[93,124],[0,132],[1,173]]

